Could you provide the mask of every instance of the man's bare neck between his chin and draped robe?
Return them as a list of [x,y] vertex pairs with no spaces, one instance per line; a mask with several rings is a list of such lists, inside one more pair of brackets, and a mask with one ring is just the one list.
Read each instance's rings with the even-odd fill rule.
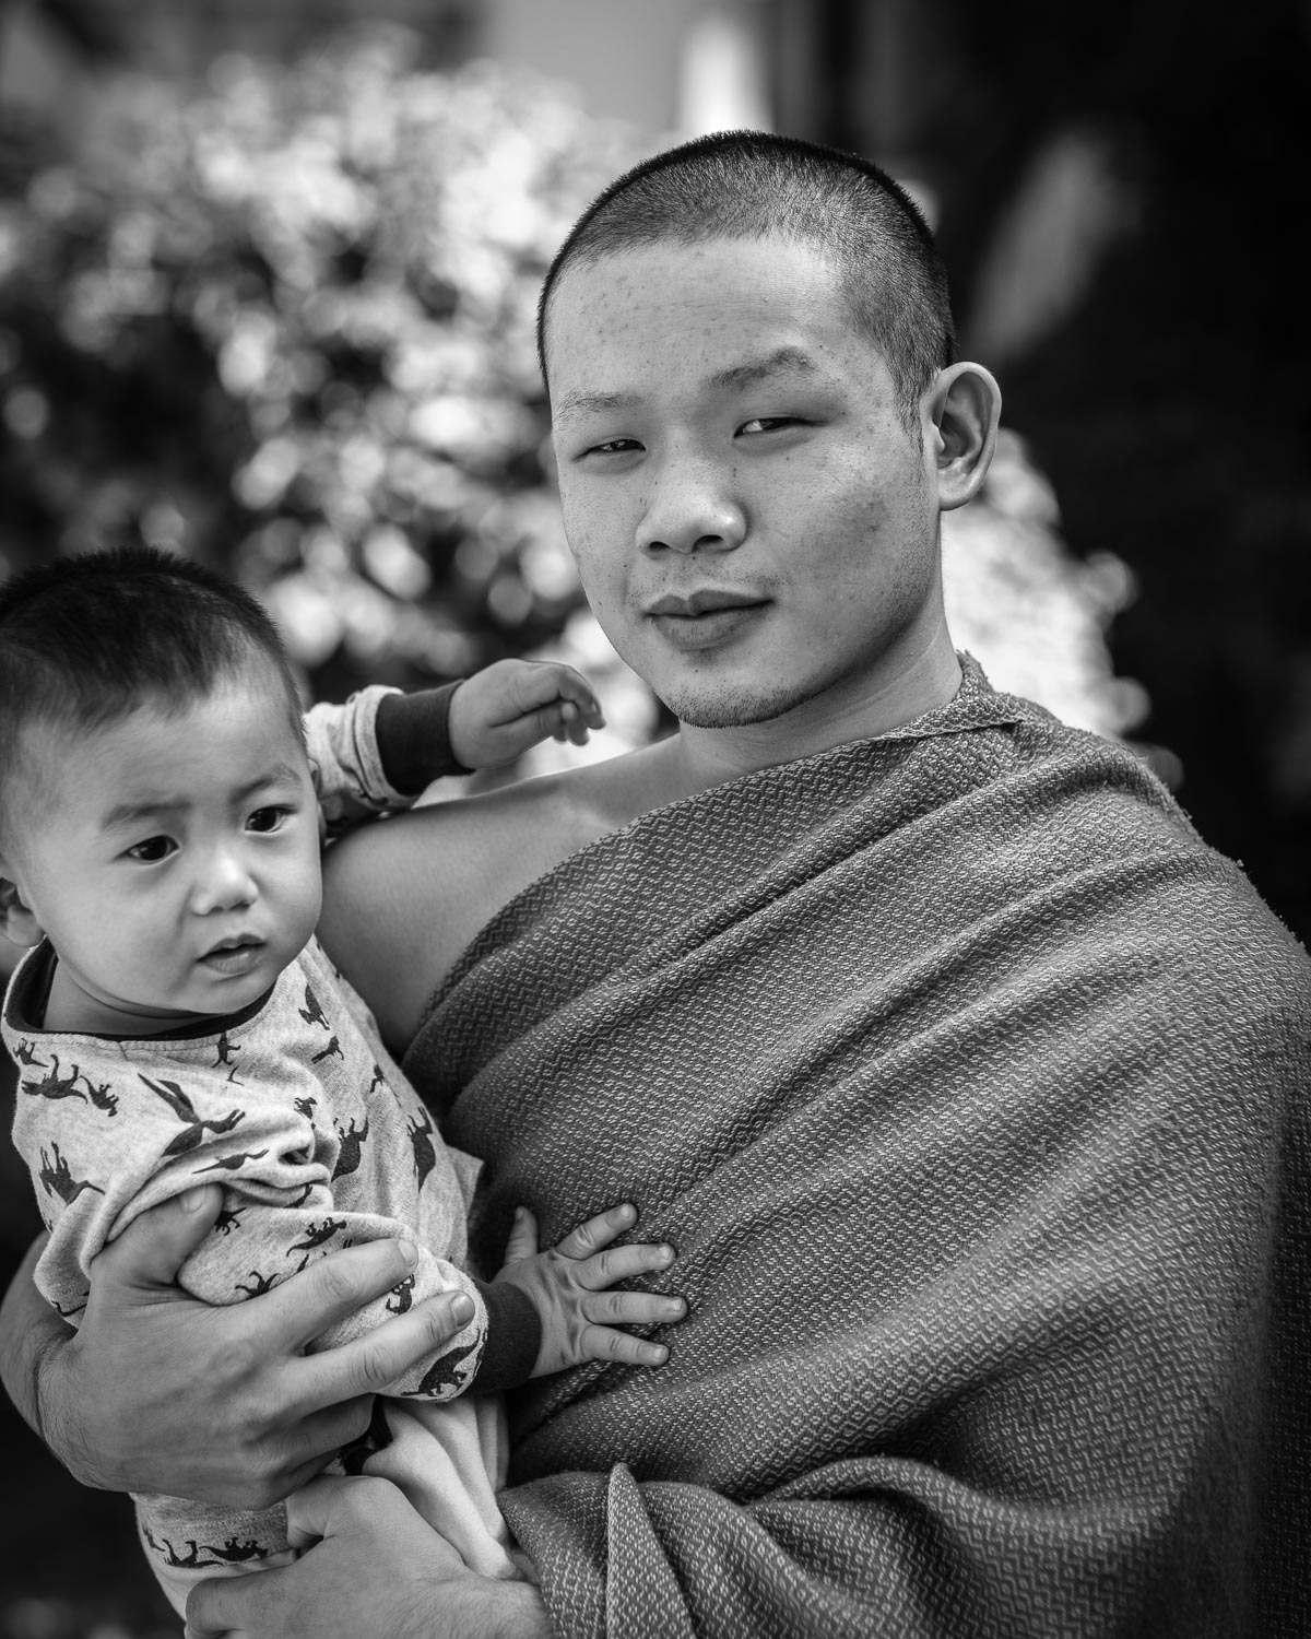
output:
[[759,769],[887,734],[947,705],[959,688],[955,651],[934,644],[890,679],[831,688],[767,723],[718,729],[683,723],[667,756],[677,760],[678,783],[687,792],[708,790]]

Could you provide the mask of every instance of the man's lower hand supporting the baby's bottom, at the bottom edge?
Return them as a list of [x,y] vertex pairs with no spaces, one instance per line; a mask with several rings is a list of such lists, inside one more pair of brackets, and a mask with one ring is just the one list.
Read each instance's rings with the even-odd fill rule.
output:
[[549,1639],[536,1588],[475,1577],[390,1480],[313,1480],[287,1498],[300,1559],[202,1582],[187,1639]]

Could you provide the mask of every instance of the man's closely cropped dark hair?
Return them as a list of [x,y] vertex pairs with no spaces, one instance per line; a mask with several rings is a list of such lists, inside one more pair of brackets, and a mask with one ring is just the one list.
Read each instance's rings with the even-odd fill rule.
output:
[[651,244],[780,236],[837,272],[859,334],[891,372],[908,420],[936,372],[955,362],[947,274],[914,202],[857,154],[765,131],[721,131],[634,166],[577,220],[538,303],[546,370],[551,297],[570,267]]

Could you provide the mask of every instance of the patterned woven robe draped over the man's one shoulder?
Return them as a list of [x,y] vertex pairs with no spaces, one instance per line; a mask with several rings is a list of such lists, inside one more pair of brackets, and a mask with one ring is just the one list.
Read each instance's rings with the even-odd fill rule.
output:
[[560,1634],[1306,1639],[1311,965],[995,693],[637,820],[405,1060],[475,1251],[621,1200],[690,1314],[511,1401]]

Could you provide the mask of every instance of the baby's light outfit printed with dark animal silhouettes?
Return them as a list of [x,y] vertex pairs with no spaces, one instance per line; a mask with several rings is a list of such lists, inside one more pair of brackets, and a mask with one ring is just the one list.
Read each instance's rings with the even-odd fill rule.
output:
[[[323,774],[318,728],[311,747],[318,741]],[[336,713],[334,734],[342,728],[352,733],[351,708]],[[333,790],[346,764],[329,769]],[[36,1269],[48,1301],[77,1324],[105,1242],[195,1183],[225,1188],[213,1233],[179,1274],[206,1303],[256,1296],[338,1247],[410,1236],[415,1274],[315,1347],[362,1336],[439,1292],[465,1292],[474,1319],[388,1387],[397,1398],[379,1400],[367,1436],[334,1467],[395,1480],[474,1569],[521,1575],[495,1505],[505,1431],[487,1390],[529,1375],[536,1314],[516,1290],[465,1272],[479,1162],[442,1144],[364,1001],[311,941],[241,1013],[118,1039],[41,1028],[52,972],[43,942],[20,964],[3,1010],[20,1070],[13,1137],[51,1229]],[[465,1395],[470,1387],[482,1393]],[[280,1506],[243,1513],[169,1496],[136,1505],[146,1555],[179,1613],[205,1577],[292,1557]]]

